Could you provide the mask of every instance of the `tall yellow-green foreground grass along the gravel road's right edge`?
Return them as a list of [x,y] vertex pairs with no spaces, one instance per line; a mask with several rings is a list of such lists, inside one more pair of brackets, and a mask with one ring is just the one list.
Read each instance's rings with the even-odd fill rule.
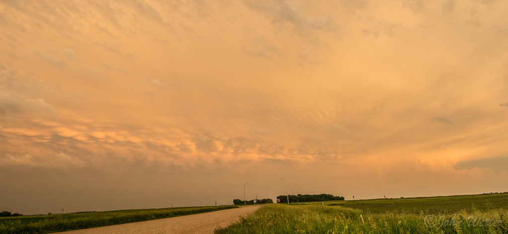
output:
[[362,214],[340,206],[273,204],[216,233],[508,233],[506,209],[433,215]]

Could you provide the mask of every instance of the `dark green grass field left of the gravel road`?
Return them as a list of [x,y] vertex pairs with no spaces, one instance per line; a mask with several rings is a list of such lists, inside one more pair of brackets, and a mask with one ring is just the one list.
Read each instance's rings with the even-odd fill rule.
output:
[[0,218],[0,234],[53,233],[59,231],[69,231],[83,228],[170,218],[232,208],[238,207],[186,207],[85,212],[41,216],[2,217]]

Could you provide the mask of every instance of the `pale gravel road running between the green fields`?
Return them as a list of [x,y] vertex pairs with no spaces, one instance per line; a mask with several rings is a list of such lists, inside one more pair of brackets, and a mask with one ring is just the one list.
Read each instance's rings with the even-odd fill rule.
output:
[[220,210],[195,215],[185,215],[166,219],[119,225],[95,227],[75,231],[57,232],[60,234],[106,234],[106,233],[213,233],[215,228],[226,227],[256,211],[261,206],[247,206],[238,209]]

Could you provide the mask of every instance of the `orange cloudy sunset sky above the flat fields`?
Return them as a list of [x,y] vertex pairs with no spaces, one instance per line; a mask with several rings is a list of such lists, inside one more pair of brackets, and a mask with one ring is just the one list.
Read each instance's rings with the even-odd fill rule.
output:
[[0,0],[0,210],[508,191],[506,12]]

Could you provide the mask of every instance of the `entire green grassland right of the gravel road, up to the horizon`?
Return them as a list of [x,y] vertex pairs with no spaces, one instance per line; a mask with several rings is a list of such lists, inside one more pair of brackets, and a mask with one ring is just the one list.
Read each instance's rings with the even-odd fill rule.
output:
[[508,193],[264,205],[216,233],[508,233]]

